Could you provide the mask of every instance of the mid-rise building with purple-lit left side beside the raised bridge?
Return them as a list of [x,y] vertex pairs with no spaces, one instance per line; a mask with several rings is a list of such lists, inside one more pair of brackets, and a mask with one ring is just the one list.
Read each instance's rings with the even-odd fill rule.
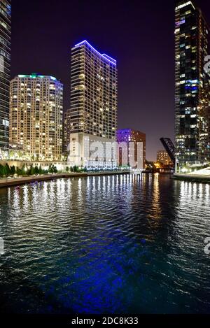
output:
[[[141,162],[142,169],[146,164],[146,134],[133,129],[120,129],[117,131],[118,149],[118,165],[123,165],[123,159],[127,159],[127,164],[132,166],[131,162]],[[123,146],[125,143],[126,146]],[[139,147],[139,145],[142,147]],[[132,158],[133,157],[133,158]]]

